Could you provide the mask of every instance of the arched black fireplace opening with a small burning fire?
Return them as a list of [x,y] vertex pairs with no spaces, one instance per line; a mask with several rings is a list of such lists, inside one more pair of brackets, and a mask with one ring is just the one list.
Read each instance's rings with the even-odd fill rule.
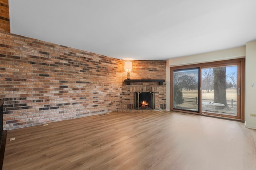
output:
[[134,109],[153,109],[154,92],[134,92]]

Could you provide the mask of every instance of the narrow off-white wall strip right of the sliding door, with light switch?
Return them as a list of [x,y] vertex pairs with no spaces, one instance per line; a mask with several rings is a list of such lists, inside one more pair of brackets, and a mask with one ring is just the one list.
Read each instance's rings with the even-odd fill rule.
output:
[[256,129],[256,117],[250,116],[256,114],[256,41],[246,43],[245,64],[245,127]]

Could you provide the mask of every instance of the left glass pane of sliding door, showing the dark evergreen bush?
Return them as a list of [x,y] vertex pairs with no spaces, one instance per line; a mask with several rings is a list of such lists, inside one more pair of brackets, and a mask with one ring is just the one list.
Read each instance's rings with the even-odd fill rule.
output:
[[199,112],[199,68],[174,70],[173,108]]

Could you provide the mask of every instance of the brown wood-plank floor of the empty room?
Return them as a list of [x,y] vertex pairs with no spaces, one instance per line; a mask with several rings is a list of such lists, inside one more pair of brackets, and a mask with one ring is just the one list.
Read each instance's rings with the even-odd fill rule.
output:
[[8,131],[10,169],[256,170],[256,130],[169,111],[114,112]]

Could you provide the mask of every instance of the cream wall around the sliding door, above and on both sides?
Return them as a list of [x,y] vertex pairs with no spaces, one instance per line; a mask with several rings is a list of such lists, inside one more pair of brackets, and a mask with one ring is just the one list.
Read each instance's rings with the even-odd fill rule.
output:
[[[246,127],[256,129],[256,117],[250,116],[250,113],[256,114],[256,107],[254,107],[255,104],[252,104],[252,102],[256,101],[256,99],[253,98],[254,96],[256,96],[256,88],[251,88],[249,86],[252,82],[256,83],[256,41],[248,42],[246,43],[246,46],[242,47],[213,51],[197,55],[177,57],[166,61],[166,109],[170,110],[170,67],[238,59],[242,57],[246,57]],[[250,95],[248,96],[248,94]],[[248,101],[250,101],[250,103],[248,103]],[[246,113],[248,113],[249,115]]]

